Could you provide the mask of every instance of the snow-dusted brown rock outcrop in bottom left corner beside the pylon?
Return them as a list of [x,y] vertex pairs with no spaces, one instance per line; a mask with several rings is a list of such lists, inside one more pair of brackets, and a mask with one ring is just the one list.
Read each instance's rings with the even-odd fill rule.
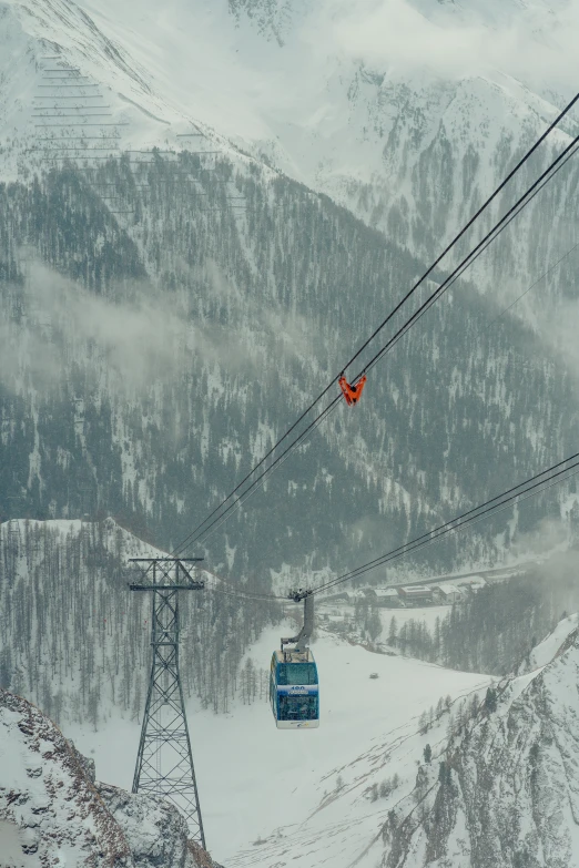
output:
[[3,690],[0,857],[1,868],[219,868],[189,840],[175,807],[95,783],[94,763],[34,705]]

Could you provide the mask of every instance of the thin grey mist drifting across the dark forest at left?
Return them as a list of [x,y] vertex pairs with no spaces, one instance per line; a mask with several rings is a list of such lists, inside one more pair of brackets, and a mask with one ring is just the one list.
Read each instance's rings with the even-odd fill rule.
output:
[[141,283],[98,295],[39,262],[27,270],[24,285],[4,287],[0,298],[0,382],[9,391],[30,376],[40,388],[57,385],[74,364],[124,390],[175,381],[200,365],[251,382],[263,380],[273,353],[276,365],[314,355],[312,324],[253,304],[211,264],[190,277],[205,302],[226,308],[224,321],[193,316],[187,290]]

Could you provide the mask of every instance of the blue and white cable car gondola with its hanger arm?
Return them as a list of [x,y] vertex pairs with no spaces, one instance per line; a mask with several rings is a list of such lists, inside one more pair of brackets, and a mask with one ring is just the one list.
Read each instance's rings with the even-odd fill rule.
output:
[[[307,641],[314,629],[314,596],[299,592],[293,600],[304,600],[304,626],[297,636],[282,639],[281,651],[274,651],[270,670],[270,702],[278,729],[314,729],[319,726],[319,684],[317,666]],[[285,649],[284,645],[294,647]]]

